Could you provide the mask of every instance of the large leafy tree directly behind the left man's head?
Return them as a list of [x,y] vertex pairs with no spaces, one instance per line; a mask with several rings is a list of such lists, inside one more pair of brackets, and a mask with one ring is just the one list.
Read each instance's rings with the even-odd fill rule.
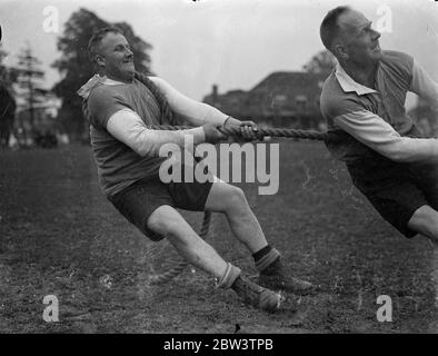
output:
[[78,89],[96,73],[88,57],[88,42],[94,30],[107,26],[117,26],[123,31],[131,44],[136,69],[145,73],[150,72],[150,57],[147,51],[152,47],[136,36],[128,23],[109,23],[86,9],[73,12],[64,24],[62,36],[58,39],[61,58],[52,65],[63,77],[53,87],[54,93],[62,99],[59,119],[73,140],[83,138],[88,132],[88,122],[81,110],[81,98],[77,95]]

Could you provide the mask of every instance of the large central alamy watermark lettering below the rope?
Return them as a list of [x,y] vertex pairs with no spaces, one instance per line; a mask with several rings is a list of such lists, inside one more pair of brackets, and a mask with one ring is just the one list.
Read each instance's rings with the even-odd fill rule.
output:
[[[193,155],[202,159],[196,161]],[[275,195],[279,188],[279,144],[200,144],[195,147],[193,137],[186,135],[183,148],[166,144],[159,156],[167,157],[159,170],[162,182],[257,182],[259,195]]]

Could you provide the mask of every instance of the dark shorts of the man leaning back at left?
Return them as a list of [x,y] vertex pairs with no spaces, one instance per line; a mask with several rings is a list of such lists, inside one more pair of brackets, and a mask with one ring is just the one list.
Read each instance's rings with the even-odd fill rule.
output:
[[[182,168],[182,171],[183,168]],[[135,225],[141,233],[153,241],[161,240],[163,236],[155,234],[147,227],[151,214],[160,206],[168,205],[191,211],[203,211],[212,182],[169,182],[160,178],[145,178],[137,180],[122,191],[108,199]]]

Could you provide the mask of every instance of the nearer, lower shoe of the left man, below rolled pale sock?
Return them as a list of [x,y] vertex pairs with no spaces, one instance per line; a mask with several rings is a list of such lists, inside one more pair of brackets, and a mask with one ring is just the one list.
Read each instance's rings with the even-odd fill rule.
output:
[[285,300],[280,294],[260,287],[242,275],[235,280],[231,288],[243,299],[243,303],[270,313],[277,312]]

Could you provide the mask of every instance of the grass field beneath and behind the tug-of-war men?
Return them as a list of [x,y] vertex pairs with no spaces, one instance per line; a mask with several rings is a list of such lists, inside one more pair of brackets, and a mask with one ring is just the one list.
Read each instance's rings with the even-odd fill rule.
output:
[[[150,286],[176,254],[103,198],[88,147],[0,151],[0,332],[233,333],[236,324],[242,333],[438,332],[429,244],[382,221],[323,145],[281,142],[277,195],[241,186],[288,268],[320,284],[318,295],[291,297],[270,315],[191,268]],[[185,216],[200,225],[201,214]],[[222,216],[208,240],[255,273]],[[46,295],[59,299],[58,323],[42,319]],[[376,318],[379,295],[391,297],[391,323]]]

